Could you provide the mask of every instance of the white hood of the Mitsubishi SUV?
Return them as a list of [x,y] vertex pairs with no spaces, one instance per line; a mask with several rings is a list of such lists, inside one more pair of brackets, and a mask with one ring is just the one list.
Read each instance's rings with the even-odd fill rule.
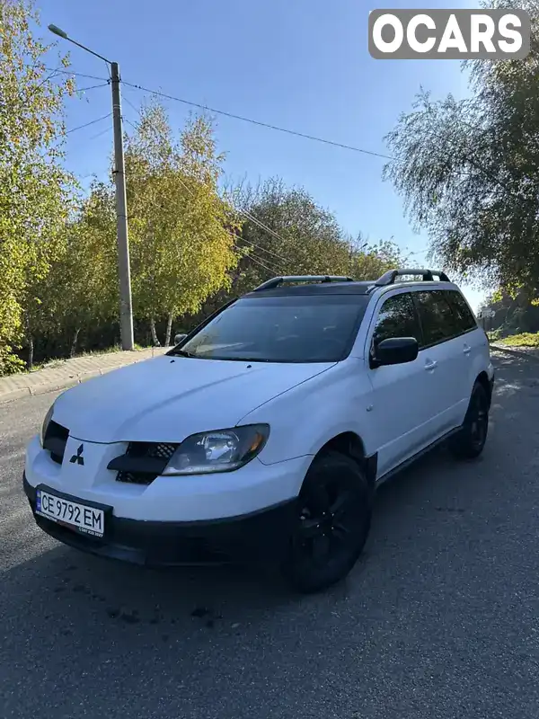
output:
[[181,442],[234,427],[261,404],[333,366],[161,356],[68,389],[53,418],[93,442]]

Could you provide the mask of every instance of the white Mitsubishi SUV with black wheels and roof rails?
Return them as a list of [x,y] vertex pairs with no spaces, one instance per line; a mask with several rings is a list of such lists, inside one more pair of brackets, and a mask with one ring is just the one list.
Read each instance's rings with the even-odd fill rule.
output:
[[482,452],[493,379],[443,272],[279,277],[60,395],[24,489],[40,528],[95,555],[274,560],[320,590],[358,559],[387,476],[442,440]]

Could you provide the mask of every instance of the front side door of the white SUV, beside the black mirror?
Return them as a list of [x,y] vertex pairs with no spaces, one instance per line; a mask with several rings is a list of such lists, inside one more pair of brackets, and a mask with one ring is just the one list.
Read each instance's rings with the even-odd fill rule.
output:
[[[409,291],[384,294],[378,300],[365,356],[371,356],[378,342],[392,337],[422,342]],[[382,476],[429,444],[431,422],[439,412],[437,378],[425,370],[421,356],[389,367],[372,368],[368,363],[367,372],[374,396],[371,418],[376,427],[378,476]]]

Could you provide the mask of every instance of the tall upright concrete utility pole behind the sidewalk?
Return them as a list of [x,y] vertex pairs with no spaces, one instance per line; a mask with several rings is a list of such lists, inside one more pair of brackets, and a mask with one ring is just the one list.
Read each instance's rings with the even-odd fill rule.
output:
[[134,350],[133,307],[131,305],[131,271],[129,265],[128,197],[126,167],[123,155],[121,100],[119,97],[119,67],[110,63],[112,86],[112,119],[114,122],[114,182],[116,184],[116,226],[118,235],[119,323],[121,349]]

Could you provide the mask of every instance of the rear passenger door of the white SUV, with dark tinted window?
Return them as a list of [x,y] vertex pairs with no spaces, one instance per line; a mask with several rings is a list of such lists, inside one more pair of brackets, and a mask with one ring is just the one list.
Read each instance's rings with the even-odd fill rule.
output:
[[421,363],[436,395],[433,403],[436,413],[431,422],[431,440],[435,440],[462,422],[464,396],[469,399],[468,356],[462,328],[446,290],[421,288],[412,292],[412,297],[422,331]]

